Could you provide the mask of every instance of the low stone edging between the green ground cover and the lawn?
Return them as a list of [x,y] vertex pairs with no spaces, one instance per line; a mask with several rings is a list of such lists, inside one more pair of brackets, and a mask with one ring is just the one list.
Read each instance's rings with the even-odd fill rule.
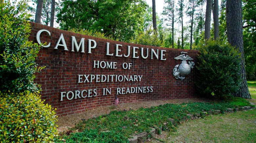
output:
[[[252,106],[244,106],[244,107],[239,107],[239,108],[227,108],[226,110],[224,110],[224,113],[232,113],[234,111],[245,111],[245,110],[250,110],[250,109],[256,109],[256,107],[252,107]],[[214,110],[214,111],[208,111],[208,112],[202,112],[202,114],[196,113],[195,116],[193,114],[187,114],[187,116],[185,116],[182,120],[187,120],[187,119],[193,119],[193,118],[198,118],[200,115],[201,116],[207,116],[207,115],[216,115],[221,113],[221,110]],[[176,124],[175,119],[168,119],[169,122],[174,125]],[[167,126],[168,122],[163,123],[163,126]],[[142,142],[146,142],[147,136],[148,134],[151,134],[153,137],[156,135],[157,130],[163,130],[162,126],[156,127],[156,128],[151,128],[150,133],[140,133],[138,135],[134,135],[132,136],[132,138],[128,138],[129,143],[142,143]]]

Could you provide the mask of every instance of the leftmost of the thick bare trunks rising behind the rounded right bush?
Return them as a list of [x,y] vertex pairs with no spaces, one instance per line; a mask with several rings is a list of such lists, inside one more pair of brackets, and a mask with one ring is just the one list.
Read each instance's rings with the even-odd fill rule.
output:
[[209,40],[211,38],[210,28],[211,28],[211,0],[206,0],[206,11],[205,11],[205,22],[204,22],[204,39]]

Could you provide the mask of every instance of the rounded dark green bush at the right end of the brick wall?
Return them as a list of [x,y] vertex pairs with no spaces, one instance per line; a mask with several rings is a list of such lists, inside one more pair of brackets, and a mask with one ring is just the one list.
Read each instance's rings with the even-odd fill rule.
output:
[[199,48],[198,80],[196,85],[203,96],[225,98],[241,86],[241,55],[229,44],[208,41]]

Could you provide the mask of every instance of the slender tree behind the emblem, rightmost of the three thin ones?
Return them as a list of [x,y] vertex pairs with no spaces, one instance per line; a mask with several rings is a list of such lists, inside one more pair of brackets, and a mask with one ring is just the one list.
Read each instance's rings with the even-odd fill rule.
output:
[[197,7],[197,0],[188,0],[188,9],[187,15],[190,17],[190,50],[192,50],[192,36],[193,36],[193,24],[194,24],[194,15]]

